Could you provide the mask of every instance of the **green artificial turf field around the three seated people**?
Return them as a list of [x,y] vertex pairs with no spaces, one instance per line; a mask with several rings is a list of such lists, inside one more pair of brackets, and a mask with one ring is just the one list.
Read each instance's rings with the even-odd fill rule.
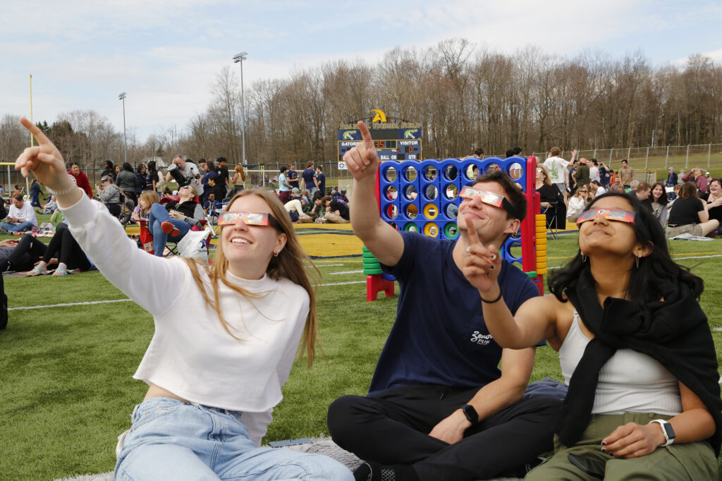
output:
[[[355,249],[358,240],[344,230],[299,233],[310,254],[329,255]],[[710,326],[722,329],[722,239],[670,246],[680,264],[705,280],[701,304]],[[575,234],[549,240],[549,266],[565,264],[576,250]],[[360,257],[315,262],[323,352],[310,371],[305,360],[294,365],[264,442],[327,434],[326,407],[342,394],[365,394],[393,322],[396,296],[366,302]],[[116,436],[129,428],[146,390],[131,376],[152,336],[151,316],[99,272],[6,278],[5,291],[12,311],[0,331],[0,480],[110,471]],[[42,307],[78,302],[95,303]],[[713,337],[722,352],[722,332]],[[531,380],[545,376],[562,379],[549,347],[537,350]]]

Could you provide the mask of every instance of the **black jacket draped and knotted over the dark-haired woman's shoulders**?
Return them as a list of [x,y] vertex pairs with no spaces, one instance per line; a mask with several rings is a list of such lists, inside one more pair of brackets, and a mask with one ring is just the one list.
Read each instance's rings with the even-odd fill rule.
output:
[[691,389],[715,420],[709,439],[717,456],[722,443],[717,355],[712,334],[697,300],[687,285],[660,280],[664,300],[639,306],[628,300],[606,298],[604,306],[587,271],[565,294],[585,326],[594,334],[569,383],[557,435],[573,446],[591,420],[599,371],[617,349],[632,349],[650,356]]

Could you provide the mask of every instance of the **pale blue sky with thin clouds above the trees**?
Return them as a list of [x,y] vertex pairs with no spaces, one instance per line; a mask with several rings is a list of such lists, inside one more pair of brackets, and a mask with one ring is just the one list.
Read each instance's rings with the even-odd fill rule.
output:
[[[139,141],[184,129],[209,104],[210,84],[248,51],[244,84],[341,58],[378,61],[396,46],[446,38],[513,53],[537,45],[573,56],[621,58],[643,51],[653,65],[703,53],[722,62],[721,1],[191,1],[5,2],[0,14],[0,115],[35,121],[97,110]],[[237,72],[238,73],[238,72]]]

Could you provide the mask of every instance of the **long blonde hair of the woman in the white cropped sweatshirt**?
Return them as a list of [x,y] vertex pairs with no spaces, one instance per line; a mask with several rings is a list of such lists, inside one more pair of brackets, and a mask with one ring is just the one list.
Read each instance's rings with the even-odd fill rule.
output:
[[[265,188],[262,187],[250,188],[248,190],[240,191],[238,194],[235,194],[235,196],[233,196],[233,198],[228,203],[228,207],[230,207],[236,199],[249,195],[259,196],[261,197],[261,199],[264,199],[264,201],[266,201],[266,204],[268,204],[268,206],[271,208],[273,216],[276,217],[279,224],[281,225],[281,232],[286,234],[286,245],[281,250],[278,256],[271,257],[269,265],[268,267],[266,267],[266,274],[273,280],[281,280],[285,277],[291,282],[294,282],[295,284],[303,287],[306,293],[308,293],[308,316],[306,316],[306,324],[303,328],[303,342],[301,344],[297,359],[300,359],[303,356],[303,352],[305,351],[306,355],[308,356],[308,368],[310,368],[311,365],[313,365],[314,358],[316,358],[316,338],[318,337],[318,313],[316,313],[316,289],[312,285],[308,277],[305,266],[310,265],[313,267],[316,272],[316,281],[318,280],[318,275],[320,275],[320,273],[318,272],[316,266],[313,265],[313,262],[310,260],[305,251],[303,251],[303,248],[298,242],[295,230],[293,229],[291,218],[289,217],[288,212],[286,212],[283,204],[281,204],[281,201],[279,201],[278,197],[275,194],[272,194],[270,191],[267,191]],[[219,300],[219,284],[220,282],[222,282],[230,289],[235,290],[235,292],[239,293],[240,295],[243,295],[245,298],[258,297],[258,295],[248,293],[241,287],[232,285],[230,282],[228,282],[228,280],[226,279],[228,260],[223,253],[222,243],[219,243],[216,248],[216,256],[211,266],[201,264],[195,259],[184,258],[183,261],[186,261],[188,267],[191,268],[191,273],[193,274],[193,280],[196,281],[196,286],[201,291],[201,295],[203,295],[206,304],[210,308],[213,308],[218,314],[223,328],[228,334],[230,334],[232,337],[235,337],[235,339],[243,341],[243,339],[235,336],[230,331],[230,327],[225,318],[223,317],[223,314],[221,313]],[[204,267],[206,274],[209,277],[209,280],[213,287],[213,298],[210,298],[210,296],[206,292],[206,286],[204,285],[201,274],[199,272],[199,265]]]

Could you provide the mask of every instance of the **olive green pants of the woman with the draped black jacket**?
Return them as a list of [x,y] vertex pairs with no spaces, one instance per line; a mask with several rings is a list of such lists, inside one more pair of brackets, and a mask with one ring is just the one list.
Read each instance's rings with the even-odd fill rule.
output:
[[605,480],[718,480],[717,458],[709,443],[672,444],[657,448],[651,454],[632,459],[615,459],[601,451],[601,440],[609,436],[617,427],[627,423],[648,424],[655,419],[669,419],[671,416],[653,413],[637,414],[627,412],[623,415],[593,415],[591,422],[578,443],[567,448],[554,437],[554,456],[539,464],[524,478],[531,481],[546,480],[585,480],[594,481],[575,467],[568,454],[574,454],[605,463]]

